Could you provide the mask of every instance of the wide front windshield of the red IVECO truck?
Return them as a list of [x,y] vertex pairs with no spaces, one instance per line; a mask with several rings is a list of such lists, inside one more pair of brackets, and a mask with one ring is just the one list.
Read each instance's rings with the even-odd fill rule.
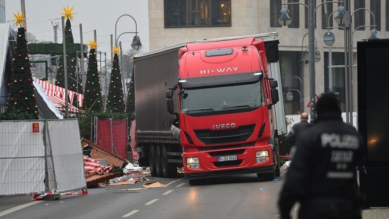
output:
[[263,106],[262,82],[215,88],[183,89],[179,93],[185,114]]

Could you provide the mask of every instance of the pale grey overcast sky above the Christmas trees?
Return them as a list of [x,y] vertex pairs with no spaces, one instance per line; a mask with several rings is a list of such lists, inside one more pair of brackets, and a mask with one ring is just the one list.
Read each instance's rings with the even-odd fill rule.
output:
[[[149,51],[149,15],[147,0],[24,0],[26,4],[27,31],[33,33],[37,40],[54,40],[53,24],[60,27],[58,43],[62,43],[62,22],[60,13],[63,7],[73,7],[74,19],[72,33],[74,42],[80,42],[80,27],[83,29],[83,43],[94,39],[97,32],[97,51],[107,53],[110,59],[110,34],[115,44],[115,24],[121,15],[131,15],[137,25],[138,35],[142,42],[142,51]],[[20,0],[6,0],[6,20],[14,19],[13,13],[22,12]],[[53,22],[53,24],[51,23]],[[12,22],[13,27],[14,23]],[[124,32],[135,32],[135,22],[131,17],[121,17],[117,22],[117,37]],[[133,34],[120,36],[124,51],[131,49]]]

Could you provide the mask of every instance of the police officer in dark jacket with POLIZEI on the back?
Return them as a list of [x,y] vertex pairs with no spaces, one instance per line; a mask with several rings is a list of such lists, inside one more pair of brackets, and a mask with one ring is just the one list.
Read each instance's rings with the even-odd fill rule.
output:
[[295,202],[299,219],[361,218],[356,166],[362,147],[354,127],[342,122],[338,99],[322,95],[317,120],[296,141],[296,152],[279,196],[281,218],[290,218]]

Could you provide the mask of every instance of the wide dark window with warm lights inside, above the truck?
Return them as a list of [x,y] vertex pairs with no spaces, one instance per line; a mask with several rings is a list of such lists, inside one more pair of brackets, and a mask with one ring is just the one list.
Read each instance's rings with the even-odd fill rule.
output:
[[165,0],[165,27],[231,26],[231,0]]

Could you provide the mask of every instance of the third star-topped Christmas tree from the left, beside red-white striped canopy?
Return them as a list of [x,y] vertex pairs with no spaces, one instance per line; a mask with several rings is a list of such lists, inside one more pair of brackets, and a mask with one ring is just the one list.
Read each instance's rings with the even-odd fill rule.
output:
[[90,109],[92,112],[97,112],[101,111],[102,101],[99,74],[97,72],[96,41],[89,40],[88,47],[90,47],[90,53],[88,59],[88,72],[86,73],[83,108],[85,110]]

